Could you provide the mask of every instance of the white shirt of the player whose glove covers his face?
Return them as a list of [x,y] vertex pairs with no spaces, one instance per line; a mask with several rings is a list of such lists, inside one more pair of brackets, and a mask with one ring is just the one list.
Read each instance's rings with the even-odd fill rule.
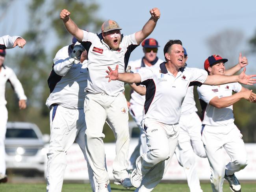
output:
[[57,104],[69,109],[83,109],[88,78],[87,60],[78,64],[69,62],[71,51],[71,45],[65,46],[53,60],[54,66],[48,78],[51,94],[46,100],[47,107]]

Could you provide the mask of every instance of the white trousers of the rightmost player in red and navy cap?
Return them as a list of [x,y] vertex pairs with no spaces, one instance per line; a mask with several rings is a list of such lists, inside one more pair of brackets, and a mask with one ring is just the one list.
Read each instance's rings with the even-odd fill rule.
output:
[[[213,192],[223,191],[225,170],[228,175],[232,175],[247,166],[247,153],[242,137],[234,123],[228,126],[202,126],[202,141],[211,167]],[[230,156],[228,164],[223,158],[223,150]]]

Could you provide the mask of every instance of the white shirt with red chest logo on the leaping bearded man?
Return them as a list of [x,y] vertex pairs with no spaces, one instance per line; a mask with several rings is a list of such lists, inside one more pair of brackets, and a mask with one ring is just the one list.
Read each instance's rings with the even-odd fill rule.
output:
[[86,91],[110,96],[117,96],[123,92],[124,83],[122,81],[108,82],[108,79],[105,78],[106,70],[108,70],[108,66],[115,70],[116,65],[119,65],[119,73],[126,70],[130,54],[138,46],[135,33],[122,37],[119,50],[110,49],[103,41],[102,33],[96,35],[83,31],[81,44],[88,53],[89,78]]

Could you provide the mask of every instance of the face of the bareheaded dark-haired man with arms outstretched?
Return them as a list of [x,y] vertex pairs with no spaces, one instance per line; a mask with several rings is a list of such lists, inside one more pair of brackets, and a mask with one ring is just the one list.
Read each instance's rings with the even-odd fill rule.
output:
[[184,49],[180,44],[173,44],[170,50],[170,61],[176,68],[181,68],[184,63]]

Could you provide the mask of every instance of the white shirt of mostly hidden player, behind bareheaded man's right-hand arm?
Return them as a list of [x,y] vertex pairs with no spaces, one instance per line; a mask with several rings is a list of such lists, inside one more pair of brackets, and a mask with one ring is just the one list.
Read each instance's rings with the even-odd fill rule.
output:
[[[188,68],[190,67],[186,66],[186,69]],[[203,74],[208,75],[206,70],[203,70],[203,69],[198,69],[198,70],[200,70]],[[187,94],[181,106],[181,115],[188,115],[194,112],[197,112],[196,102],[194,98],[194,86],[189,86],[189,88],[187,89]]]

